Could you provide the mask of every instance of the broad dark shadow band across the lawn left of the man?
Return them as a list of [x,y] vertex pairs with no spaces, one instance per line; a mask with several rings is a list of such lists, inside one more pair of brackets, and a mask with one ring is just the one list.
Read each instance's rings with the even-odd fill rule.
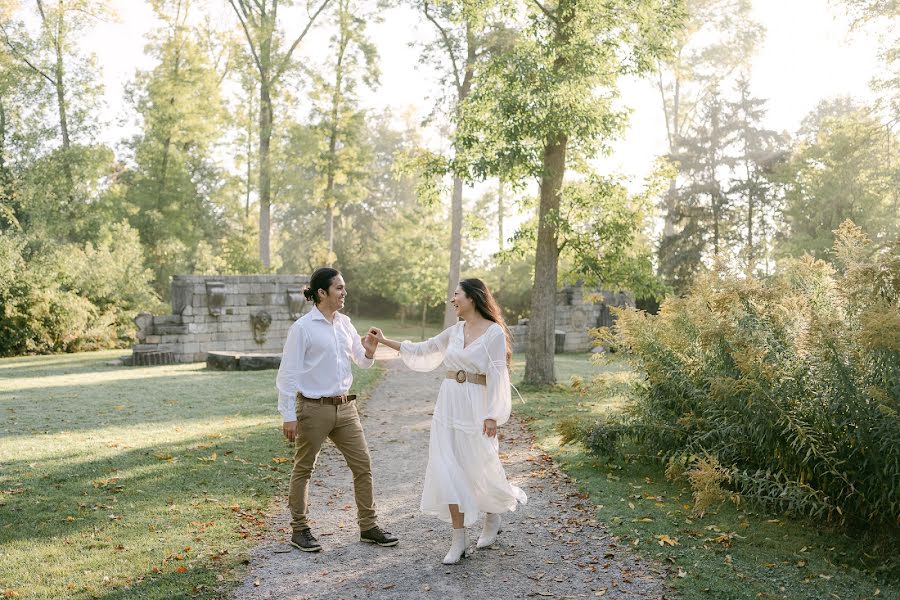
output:
[[222,439],[196,436],[75,465],[44,466],[24,479],[23,470],[31,465],[11,461],[7,473],[19,474],[24,485],[14,489],[24,491],[6,496],[0,544],[84,530],[122,531],[136,516],[144,529],[164,526],[201,504],[228,515],[229,497],[251,489],[271,495],[284,487],[290,461],[277,464],[272,457],[288,458],[289,451],[274,428],[252,427],[229,431]]

